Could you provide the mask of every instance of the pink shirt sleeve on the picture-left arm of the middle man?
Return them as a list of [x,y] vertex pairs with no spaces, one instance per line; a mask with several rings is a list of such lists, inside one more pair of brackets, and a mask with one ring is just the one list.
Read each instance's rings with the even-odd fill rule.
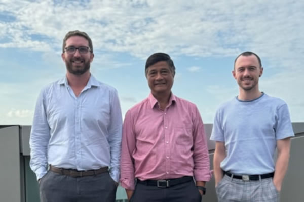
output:
[[130,190],[135,189],[134,159],[132,157],[136,144],[135,137],[132,114],[131,111],[128,111],[123,124],[120,182],[122,187]]

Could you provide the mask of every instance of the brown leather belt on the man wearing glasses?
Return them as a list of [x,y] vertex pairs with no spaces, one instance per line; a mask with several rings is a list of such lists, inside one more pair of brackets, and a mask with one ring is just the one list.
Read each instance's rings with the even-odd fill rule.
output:
[[78,171],[74,169],[57,168],[55,166],[50,165],[50,170],[55,173],[68,175],[71,177],[85,177],[85,176],[98,175],[100,173],[108,172],[108,167],[102,167],[98,170]]

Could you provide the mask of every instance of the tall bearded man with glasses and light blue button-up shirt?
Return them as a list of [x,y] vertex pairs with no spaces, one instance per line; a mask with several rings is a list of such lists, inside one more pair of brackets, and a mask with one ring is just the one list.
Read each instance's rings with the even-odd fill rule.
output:
[[114,202],[122,132],[117,91],[90,73],[93,45],[85,32],[65,35],[61,57],[66,75],[42,89],[30,135],[41,202]]

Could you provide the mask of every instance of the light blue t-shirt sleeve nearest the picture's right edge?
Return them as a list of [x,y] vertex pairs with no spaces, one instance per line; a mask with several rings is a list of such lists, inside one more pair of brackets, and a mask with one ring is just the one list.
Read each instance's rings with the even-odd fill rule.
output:
[[276,139],[284,139],[294,136],[288,106],[283,104],[277,109],[276,115]]

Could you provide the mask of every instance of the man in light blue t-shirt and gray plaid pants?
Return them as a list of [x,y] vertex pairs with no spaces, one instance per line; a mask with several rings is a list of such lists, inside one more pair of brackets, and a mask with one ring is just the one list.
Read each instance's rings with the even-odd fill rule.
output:
[[[219,201],[279,201],[294,136],[286,103],[259,91],[260,58],[240,54],[232,74],[239,95],[216,112],[211,140]],[[277,161],[274,161],[276,147]]]

